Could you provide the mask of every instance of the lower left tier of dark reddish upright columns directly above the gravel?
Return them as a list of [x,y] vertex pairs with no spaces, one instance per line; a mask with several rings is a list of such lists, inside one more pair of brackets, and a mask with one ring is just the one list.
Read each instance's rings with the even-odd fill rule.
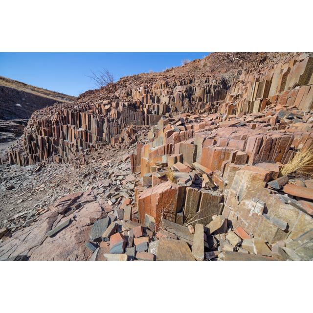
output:
[[33,114],[24,129],[24,151],[10,151],[10,164],[25,166],[48,159],[72,163],[86,149],[117,144],[116,136],[128,125],[153,125],[160,118],[143,113],[134,102],[103,102],[57,105]]

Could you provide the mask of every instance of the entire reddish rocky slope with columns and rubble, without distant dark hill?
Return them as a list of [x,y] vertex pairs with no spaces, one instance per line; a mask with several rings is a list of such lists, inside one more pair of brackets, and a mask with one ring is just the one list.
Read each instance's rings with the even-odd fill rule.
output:
[[[312,54],[216,53],[111,91],[33,114],[3,160],[1,259],[313,259],[312,163],[285,166],[312,154]],[[56,163],[57,202],[10,219],[32,190],[15,164],[46,192]]]

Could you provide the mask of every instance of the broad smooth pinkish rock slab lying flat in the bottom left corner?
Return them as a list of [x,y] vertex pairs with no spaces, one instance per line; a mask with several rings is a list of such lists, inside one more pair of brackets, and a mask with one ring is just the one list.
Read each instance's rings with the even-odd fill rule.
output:
[[[76,197],[77,195],[74,196]],[[0,243],[0,260],[18,255],[27,255],[29,260],[38,261],[89,260],[92,252],[85,243],[89,241],[92,224],[103,218],[105,212],[99,205],[84,205],[68,216],[63,216],[58,214],[60,201],[57,204],[42,214],[36,224],[17,231],[11,238]],[[71,224],[53,238],[47,237],[46,233],[49,230],[68,219],[72,220]]]

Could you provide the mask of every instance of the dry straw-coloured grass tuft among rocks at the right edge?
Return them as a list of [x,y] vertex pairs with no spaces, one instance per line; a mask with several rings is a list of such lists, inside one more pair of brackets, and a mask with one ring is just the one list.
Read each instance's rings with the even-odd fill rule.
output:
[[283,176],[293,174],[294,176],[312,177],[313,146],[295,152],[292,159],[282,167],[281,173]]

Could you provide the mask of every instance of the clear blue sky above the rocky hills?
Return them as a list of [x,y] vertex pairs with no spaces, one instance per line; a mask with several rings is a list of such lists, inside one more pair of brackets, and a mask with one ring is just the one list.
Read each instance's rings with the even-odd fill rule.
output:
[[195,60],[208,52],[14,52],[0,53],[0,76],[37,87],[77,96],[94,89],[87,77],[90,70],[107,68],[116,80],[120,77],[159,72],[181,65],[184,59]]

